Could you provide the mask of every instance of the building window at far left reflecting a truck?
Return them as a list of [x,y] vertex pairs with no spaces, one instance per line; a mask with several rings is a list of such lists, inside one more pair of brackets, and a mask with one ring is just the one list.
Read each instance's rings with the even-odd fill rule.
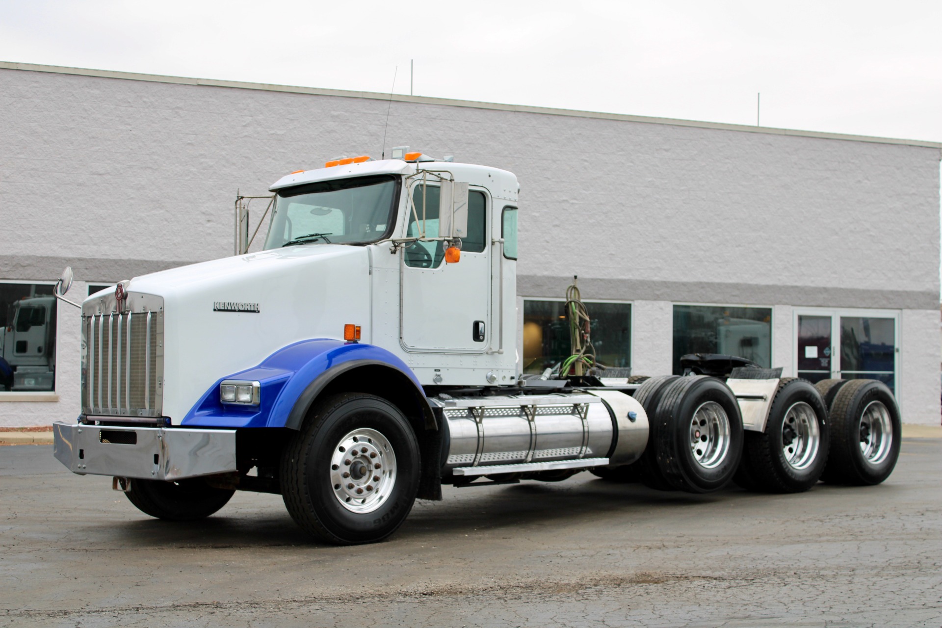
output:
[[0,283],[0,391],[52,391],[55,376],[53,285]]

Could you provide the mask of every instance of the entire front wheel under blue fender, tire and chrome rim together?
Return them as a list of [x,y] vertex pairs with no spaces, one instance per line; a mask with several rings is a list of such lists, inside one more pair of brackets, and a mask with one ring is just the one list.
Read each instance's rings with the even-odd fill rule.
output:
[[336,395],[308,415],[285,447],[284,506],[318,539],[376,542],[412,510],[419,470],[413,428],[396,406],[376,395]]

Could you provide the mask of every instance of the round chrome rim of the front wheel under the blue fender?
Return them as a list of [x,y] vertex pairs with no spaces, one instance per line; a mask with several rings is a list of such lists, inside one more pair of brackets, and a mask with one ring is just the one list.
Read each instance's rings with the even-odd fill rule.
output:
[[396,452],[382,433],[354,429],[333,447],[333,496],[350,512],[381,507],[396,486]]

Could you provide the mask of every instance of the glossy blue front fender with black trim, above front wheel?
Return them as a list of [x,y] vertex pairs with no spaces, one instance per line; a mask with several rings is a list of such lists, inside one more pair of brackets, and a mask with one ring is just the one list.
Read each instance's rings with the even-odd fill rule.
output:
[[[219,378],[187,412],[181,425],[300,429],[314,399],[333,378],[365,365],[395,369],[411,380],[423,401],[421,410],[428,424],[431,411],[425,401],[425,393],[405,362],[379,346],[321,338],[285,346],[258,366]],[[221,403],[219,383],[223,379],[258,381],[261,384],[261,403],[258,406]]]

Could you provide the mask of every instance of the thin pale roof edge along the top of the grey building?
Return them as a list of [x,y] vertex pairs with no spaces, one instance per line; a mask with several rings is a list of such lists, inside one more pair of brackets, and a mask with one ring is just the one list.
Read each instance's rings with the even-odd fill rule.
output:
[[645,124],[669,124],[672,126],[690,126],[701,129],[720,129],[725,131],[740,131],[744,133],[764,133],[774,136],[817,137],[820,139],[843,139],[856,142],[873,142],[877,144],[897,144],[901,146],[917,146],[920,148],[934,148],[940,151],[942,159],[942,142],[933,142],[920,139],[898,139],[893,137],[855,136],[841,133],[826,133],[820,131],[800,131],[796,129],[780,129],[769,126],[751,126],[747,124],[730,124],[728,122],[707,122],[679,120],[675,118],[655,118],[648,116],[632,116],[620,113],[603,113],[596,111],[581,111],[578,109],[558,109],[552,107],[531,105],[505,105],[501,103],[483,103],[478,101],[464,101],[449,98],[434,98],[430,96],[406,96],[404,94],[384,94],[372,91],[352,91],[347,89],[302,88],[289,85],[273,85],[268,83],[246,83],[242,81],[223,81],[211,78],[190,78],[185,76],[168,76],[163,74],[144,74],[138,72],[117,72],[112,70],[89,70],[85,68],[68,68],[63,66],[40,65],[36,63],[19,63],[0,61],[2,70],[21,70],[25,72],[52,72],[57,74],[77,74],[80,76],[94,76],[99,78],[116,78],[129,81],[149,81],[152,83],[175,83],[179,85],[194,85],[213,88],[231,89],[259,89],[262,91],[284,91],[313,96],[339,96],[344,98],[365,98],[369,100],[395,101],[398,103],[414,103],[418,105],[447,105],[462,106],[476,109],[491,109],[495,111],[512,111],[520,113],[537,113],[547,116],[569,116],[572,118],[592,118],[596,120],[611,120],[625,122],[642,122]]

